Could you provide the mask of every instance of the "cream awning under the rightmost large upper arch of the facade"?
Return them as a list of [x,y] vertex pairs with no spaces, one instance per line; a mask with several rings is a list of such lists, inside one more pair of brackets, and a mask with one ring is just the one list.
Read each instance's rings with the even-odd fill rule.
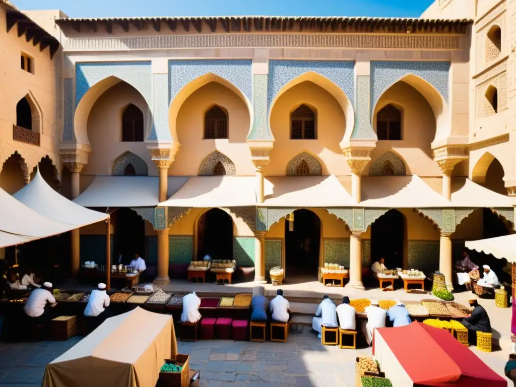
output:
[[432,208],[453,206],[419,176],[362,176],[364,207]]

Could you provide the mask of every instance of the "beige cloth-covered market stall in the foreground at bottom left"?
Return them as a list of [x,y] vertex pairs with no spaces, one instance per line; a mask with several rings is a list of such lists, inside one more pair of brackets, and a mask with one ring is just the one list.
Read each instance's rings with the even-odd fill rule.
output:
[[176,354],[171,316],[136,308],[108,318],[49,363],[42,386],[153,386],[165,359]]

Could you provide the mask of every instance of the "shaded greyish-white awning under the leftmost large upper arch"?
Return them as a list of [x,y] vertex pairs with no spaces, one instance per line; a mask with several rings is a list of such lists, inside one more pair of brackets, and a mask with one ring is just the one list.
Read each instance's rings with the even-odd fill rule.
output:
[[[186,176],[168,178],[168,196],[188,180]],[[84,207],[155,207],[159,202],[157,176],[95,176],[74,203]]]

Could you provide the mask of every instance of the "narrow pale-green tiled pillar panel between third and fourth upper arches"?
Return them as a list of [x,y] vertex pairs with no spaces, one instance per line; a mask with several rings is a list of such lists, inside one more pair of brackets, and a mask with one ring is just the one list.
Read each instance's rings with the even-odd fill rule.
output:
[[357,76],[357,97],[355,107],[355,126],[351,138],[377,139],[370,118],[370,77]]

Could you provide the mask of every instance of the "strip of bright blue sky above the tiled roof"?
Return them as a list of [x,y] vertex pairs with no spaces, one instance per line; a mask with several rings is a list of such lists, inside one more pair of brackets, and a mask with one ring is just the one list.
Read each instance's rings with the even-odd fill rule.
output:
[[71,18],[137,16],[372,16],[417,18],[433,0],[11,0]]

